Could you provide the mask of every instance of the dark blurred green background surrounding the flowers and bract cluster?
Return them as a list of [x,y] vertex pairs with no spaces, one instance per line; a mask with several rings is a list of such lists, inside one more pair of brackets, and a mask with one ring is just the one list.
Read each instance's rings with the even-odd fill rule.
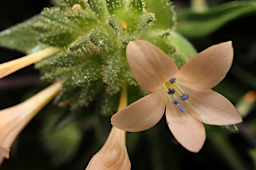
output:
[[[207,9],[205,5],[193,6],[191,1],[173,1],[178,18],[177,31],[198,51],[212,44],[233,41],[233,66],[225,80],[213,90],[228,98],[243,116],[243,123],[237,125],[239,133],[205,125],[207,140],[203,149],[190,153],[175,141],[163,118],[151,129],[127,133],[131,169],[255,169],[256,2],[237,1],[252,2],[237,8],[221,6],[230,2],[207,1]],[[218,5],[219,8],[214,9]],[[37,15],[44,7],[51,7],[51,2],[1,1],[0,31]],[[200,14],[205,10],[209,13]],[[23,55],[0,48],[0,63]],[[40,81],[39,71],[33,66],[3,78],[0,80],[0,109],[18,104],[45,86],[47,83]],[[1,169],[85,169],[111,129],[110,118],[101,116],[99,108],[99,102],[95,101],[90,108],[69,116],[69,120],[61,120],[67,108],[48,104],[13,143],[11,158],[3,162]],[[58,120],[61,123],[56,125]]]

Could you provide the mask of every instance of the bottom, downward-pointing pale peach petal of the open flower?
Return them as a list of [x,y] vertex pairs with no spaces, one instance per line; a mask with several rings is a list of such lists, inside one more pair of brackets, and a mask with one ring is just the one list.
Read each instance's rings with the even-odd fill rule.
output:
[[201,122],[193,118],[188,110],[179,110],[167,102],[166,119],[175,139],[191,152],[199,152],[205,143],[205,128]]

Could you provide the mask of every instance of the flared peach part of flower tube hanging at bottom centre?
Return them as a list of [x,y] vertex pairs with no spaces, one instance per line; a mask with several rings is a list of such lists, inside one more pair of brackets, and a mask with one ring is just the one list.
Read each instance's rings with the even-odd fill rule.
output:
[[91,159],[85,170],[131,169],[131,162],[125,146],[125,131],[113,126],[107,141]]

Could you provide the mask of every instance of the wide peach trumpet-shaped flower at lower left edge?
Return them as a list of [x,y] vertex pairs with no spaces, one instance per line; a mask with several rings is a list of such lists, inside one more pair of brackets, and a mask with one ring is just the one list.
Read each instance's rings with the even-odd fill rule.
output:
[[21,130],[61,90],[57,82],[21,104],[0,110],[0,165],[9,158],[10,147]]

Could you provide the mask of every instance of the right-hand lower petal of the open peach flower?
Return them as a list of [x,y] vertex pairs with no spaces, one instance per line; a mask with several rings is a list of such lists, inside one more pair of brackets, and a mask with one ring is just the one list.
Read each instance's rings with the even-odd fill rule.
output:
[[233,104],[212,90],[197,91],[183,87],[189,94],[192,107],[187,107],[194,118],[211,125],[239,124],[243,120]]

